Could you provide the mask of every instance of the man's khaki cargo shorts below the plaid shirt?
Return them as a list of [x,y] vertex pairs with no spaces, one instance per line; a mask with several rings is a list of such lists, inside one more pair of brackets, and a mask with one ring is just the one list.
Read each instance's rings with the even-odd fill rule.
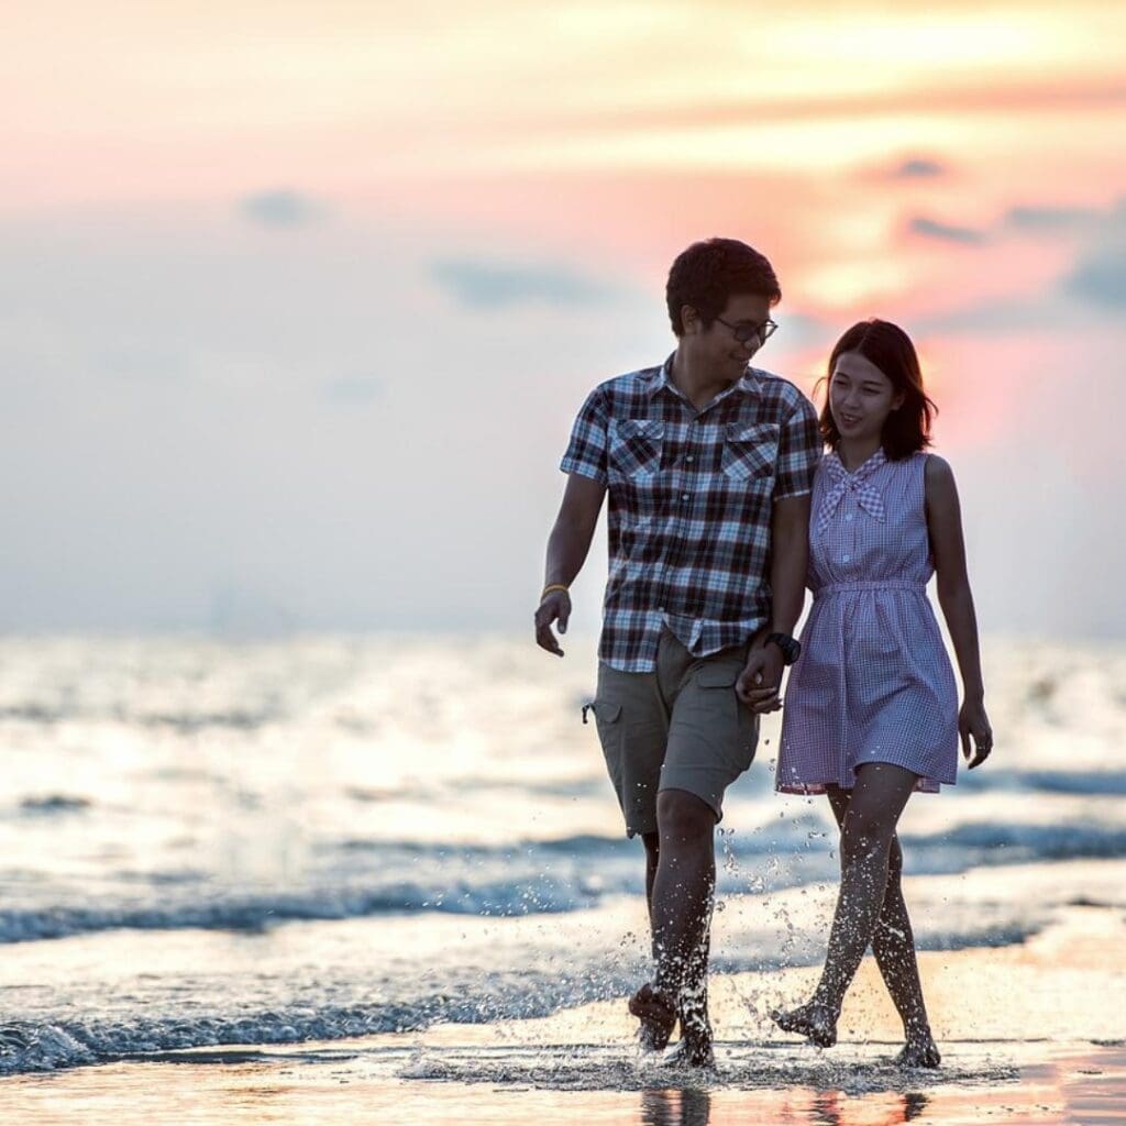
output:
[[695,794],[723,817],[724,790],[759,739],[759,717],[735,695],[748,647],[697,658],[665,629],[655,672],[599,664],[595,721],[629,837],[656,832],[662,789]]

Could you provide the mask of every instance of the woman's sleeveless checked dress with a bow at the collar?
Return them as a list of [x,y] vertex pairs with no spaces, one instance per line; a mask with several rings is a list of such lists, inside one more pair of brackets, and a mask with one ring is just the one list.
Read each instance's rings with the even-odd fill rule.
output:
[[779,790],[851,789],[865,762],[905,767],[931,793],[956,780],[958,690],[926,592],[927,457],[881,449],[849,473],[832,453],[817,467],[813,608],[786,687]]

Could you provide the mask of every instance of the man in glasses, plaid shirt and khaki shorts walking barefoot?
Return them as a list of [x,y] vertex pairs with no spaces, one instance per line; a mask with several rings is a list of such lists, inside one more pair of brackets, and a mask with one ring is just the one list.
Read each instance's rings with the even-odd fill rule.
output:
[[645,844],[656,962],[629,1011],[643,1047],[663,1049],[679,1019],[679,1062],[712,1066],[715,825],[799,652],[821,438],[793,384],[749,367],[781,300],[762,254],[695,243],[667,298],[676,351],[596,387],[575,420],[535,622],[538,644],[562,656],[552,626],[566,632],[568,588],[609,492],[593,711],[626,833]]

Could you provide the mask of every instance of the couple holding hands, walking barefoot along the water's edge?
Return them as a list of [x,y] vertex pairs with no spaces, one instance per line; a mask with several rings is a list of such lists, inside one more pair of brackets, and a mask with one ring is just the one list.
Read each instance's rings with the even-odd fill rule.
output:
[[895,828],[914,790],[955,781],[959,738],[975,767],[992,734],[958,498],[949,466],[924,453],[935,406],[915,350],[886,321],[854,325],[830,357],[819,419],[793,384],[749,366],[781,298],[762,254],[695,243],[667,297],[676,351],[596,387],[575,420],[535,616],[538,644],[562,656],[553,625],[565,633],[568,588],[609,492],[593,711],[626,832],[645,846],[655,974],[629,1001],[641,1044],[662,1051],[679,1021],[676,1060],[713,1065],[714,831],[788,665],[776,784],[828,796],[841,887],[820,984],[774,1019],[833,1044],[870,944],[903,1019],[900,1061],[937,1066]]

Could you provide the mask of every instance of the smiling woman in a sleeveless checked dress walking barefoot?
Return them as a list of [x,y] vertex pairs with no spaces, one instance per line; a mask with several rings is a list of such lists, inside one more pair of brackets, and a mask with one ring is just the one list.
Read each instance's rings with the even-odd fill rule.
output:
[[[895,828],[912,793],[954,784],[959,738],[971,768],[992,748],[958,495],[949,465],[924,453],[936,408],[902,329],[852,325],[826,378],[821,432],[830,450],[814,480],[810,528],[814,602],[786,688],[776,783],[829,797],[841,887],[813,998],[772,1017],[814,1044],[834,1044],[870,942],[903,1020],[899,1061],[936,1067]],[[962,673],[960,709],[927,599],[932,574]]]

